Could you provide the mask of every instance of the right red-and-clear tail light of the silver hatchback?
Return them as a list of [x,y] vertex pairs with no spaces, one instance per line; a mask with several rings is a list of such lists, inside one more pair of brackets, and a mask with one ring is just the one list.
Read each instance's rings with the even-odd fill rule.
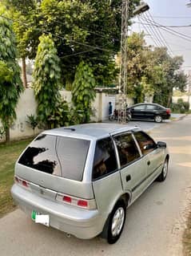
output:
[[82,199],[78,197],[71,197],[69,195],[58,193],[56,197],[57,201],[61,201],[62,203],[68,204],[68,205],[74,205],[83,209],[96,209],[96,202],[95,199]]

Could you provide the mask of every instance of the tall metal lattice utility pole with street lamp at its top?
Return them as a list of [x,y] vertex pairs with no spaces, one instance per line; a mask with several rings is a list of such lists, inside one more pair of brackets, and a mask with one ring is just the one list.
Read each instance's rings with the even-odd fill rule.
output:
[[[133,11],[134,15],[141,14],[149,10],[148,4],[141,2],[140,6]],[[127,62],[128,62],[128,20],[129,20],[129,0],[122,0],[121,7],[121,65],[119,76],[119,108],[118,121],[126,122],[126,86],[127,86]]]

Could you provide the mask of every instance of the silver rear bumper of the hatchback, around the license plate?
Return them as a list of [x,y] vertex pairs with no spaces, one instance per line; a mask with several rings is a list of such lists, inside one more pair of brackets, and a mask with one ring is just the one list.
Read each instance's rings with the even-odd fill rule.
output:
[[11,189],[15,203],[29,216],[33,210],[50,215],[50,226],[73,234],[77,238],[90,239],[100,234],[106,217],[102,217],[98,210],[78,209],[71,205],[62,205],[57,201],[50,201],[39,197],[14,184]]

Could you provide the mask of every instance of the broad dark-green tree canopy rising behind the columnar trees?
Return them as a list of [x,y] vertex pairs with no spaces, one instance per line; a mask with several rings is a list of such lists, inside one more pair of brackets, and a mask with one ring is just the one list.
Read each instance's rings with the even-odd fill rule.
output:
[[[34,58],[38,37],[50,33],[61,59],[64,85],[71,86],[75,67],[82,61],[92,64],[97,84],[108,86],[116,79],[114,55],[120,50],[121,0],[4,1],[14,8],[14,29],[23,61]],[[139,2],[129,2],[130,17]]]

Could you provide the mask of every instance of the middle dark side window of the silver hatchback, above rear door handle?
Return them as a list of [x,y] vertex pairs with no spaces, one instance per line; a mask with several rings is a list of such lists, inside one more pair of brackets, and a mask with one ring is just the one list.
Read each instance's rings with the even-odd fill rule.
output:
[[130,133],[117,135],[114,137],[114,140],[117,144],[121,167],[128,165],[140,157],[137,145]]

